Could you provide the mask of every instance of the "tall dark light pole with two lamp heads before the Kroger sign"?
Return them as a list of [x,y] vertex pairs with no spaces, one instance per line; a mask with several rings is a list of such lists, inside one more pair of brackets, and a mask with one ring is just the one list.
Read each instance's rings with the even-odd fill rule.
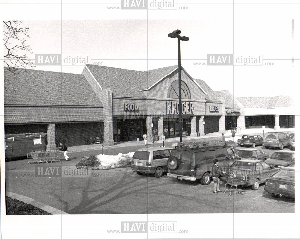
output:
[[178,111],[179,111],[179,142],[182,142],[182,102],[181,102],[181,56],[180,56],[180,41],[188,41],[190,40],[189,37],[181,37],[180,36],[181,31],[175,30],[168,34],[168,37],[176,38],[178,39],[178,98],[179,98],[179,104],[178,104]]

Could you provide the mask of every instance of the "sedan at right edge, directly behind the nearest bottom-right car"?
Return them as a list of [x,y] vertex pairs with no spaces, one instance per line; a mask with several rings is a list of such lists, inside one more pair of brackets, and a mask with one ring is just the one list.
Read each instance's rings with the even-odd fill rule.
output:
[[275,168],[287,167],[291,165],[292,162],[295,162],[295,152],[289,150],[275,151],[265,162]]

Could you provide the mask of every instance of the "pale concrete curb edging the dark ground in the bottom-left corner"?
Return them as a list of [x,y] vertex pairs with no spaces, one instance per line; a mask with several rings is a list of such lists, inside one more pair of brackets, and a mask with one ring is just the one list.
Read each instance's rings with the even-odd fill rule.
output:
[[23,196],[23,195],[20,195],[20,194],[17,194],[17,193],[6,192],[6,196],[17,199],[19,201],[22,201],[22,202],[25,202],[25,203],[28,203],[28,204],[31,204],[31,205],[33,205],[37,208],[41,208],[42,210],[44,210],[48,213],[51,213],[53,215],[68,214],[64,211],[61,211],[61,210],[57,209],[57,208],[53,208],[49,205],[46,205],[42,202],[39,202],[39,201],[35,200],[35,199],[32,199],[30,197],[26,197],[26,196]]

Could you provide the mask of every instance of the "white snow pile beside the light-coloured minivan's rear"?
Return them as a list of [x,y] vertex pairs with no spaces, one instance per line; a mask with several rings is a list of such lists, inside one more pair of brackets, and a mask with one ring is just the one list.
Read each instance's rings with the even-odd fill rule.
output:
[[118,155],[95,155],[93,166],[99,169],[110,169],[131,164],[134,152],[127,154],[119,153]]

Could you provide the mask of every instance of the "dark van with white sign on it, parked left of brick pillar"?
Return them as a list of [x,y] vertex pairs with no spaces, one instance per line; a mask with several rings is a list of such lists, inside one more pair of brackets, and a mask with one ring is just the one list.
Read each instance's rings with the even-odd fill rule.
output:
[[25,157],[32,151],[46,150],[45,135],[45,133],[5,134],[5,158]]

